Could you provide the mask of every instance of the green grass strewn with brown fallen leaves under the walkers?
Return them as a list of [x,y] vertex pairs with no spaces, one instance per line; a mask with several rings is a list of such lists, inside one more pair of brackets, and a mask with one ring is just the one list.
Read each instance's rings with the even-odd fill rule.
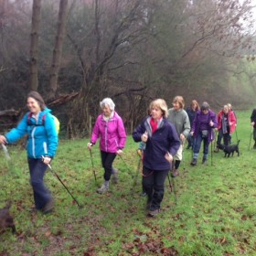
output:
[[[9,146],[11,163],[0,152],[0,207],[12,200],[17,234],[7,230],[0,235],[0,255],[256,255],[256,151],[249,150],[251,111],[236,114],[240,157],[213,153],[208,166],[199,161],[193,167],[189,165],[191,152],[185,150],[181,176],[175,179],[177,200],[166,180],[162,213],[155,219],[145,218],[141,176],[133,184],[138,156],[131,137],[123,160],[117,157],[114,161],[120,181],[105,195],[95,193],[88,140],[60,141],[52,167],[83,208],[78,208],[48,172],[46,184],[56,199],[50,215],[28,211],[33,196],[26,152]],[[235,133],[232,140],[237,141]],[[92,159],[101,185],[98,145]]]

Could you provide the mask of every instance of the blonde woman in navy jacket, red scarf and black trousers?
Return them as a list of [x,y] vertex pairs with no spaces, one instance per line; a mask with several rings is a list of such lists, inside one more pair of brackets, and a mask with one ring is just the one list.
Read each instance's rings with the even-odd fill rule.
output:
[[176,128],[167,121],[165,100],[157,99],[149,105],[150,115],[133,131],[134,142],[144,142],[143,187],[147,195],[147,216],[160,212],[165,192],[165,178],[172,167],[173,155],[180,145]]

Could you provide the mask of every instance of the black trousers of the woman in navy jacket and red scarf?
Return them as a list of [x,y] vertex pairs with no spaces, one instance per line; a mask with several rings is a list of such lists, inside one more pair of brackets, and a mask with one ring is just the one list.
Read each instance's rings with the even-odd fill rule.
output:
[[144,166],[143,187],[150,210],[159,209],[165,193],[165,178],[170,170],[155,171]]

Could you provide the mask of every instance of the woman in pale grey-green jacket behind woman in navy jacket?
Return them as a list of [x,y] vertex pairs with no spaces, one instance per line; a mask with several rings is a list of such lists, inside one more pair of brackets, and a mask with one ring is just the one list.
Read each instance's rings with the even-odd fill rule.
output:
[[168,110],[168,121],[176,127],[176,133],[180,139],[180,146],[175,155],[175,166],[172,176],[179,176],[178,167],[182,160],[182,152],[187,134],[190,132],[190,123],[187,112],[184,110],[185,102],[182,96],[176,96],[173,100],[173,108]]

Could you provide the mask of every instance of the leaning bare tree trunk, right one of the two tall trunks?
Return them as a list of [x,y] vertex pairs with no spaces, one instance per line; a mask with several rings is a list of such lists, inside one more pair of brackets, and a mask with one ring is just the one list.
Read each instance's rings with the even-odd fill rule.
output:
[[55,47],[52,54],[52,62],[49,76],[49,91],[48,100],[55,97],[58,87],[58,73],[60,66],[60,59],[62,53],[62,45],[65,35],[66,21],[68,14],[68,0],[60,0],[59,2],[59,18],[58,18],[58,30],[55,40]]

